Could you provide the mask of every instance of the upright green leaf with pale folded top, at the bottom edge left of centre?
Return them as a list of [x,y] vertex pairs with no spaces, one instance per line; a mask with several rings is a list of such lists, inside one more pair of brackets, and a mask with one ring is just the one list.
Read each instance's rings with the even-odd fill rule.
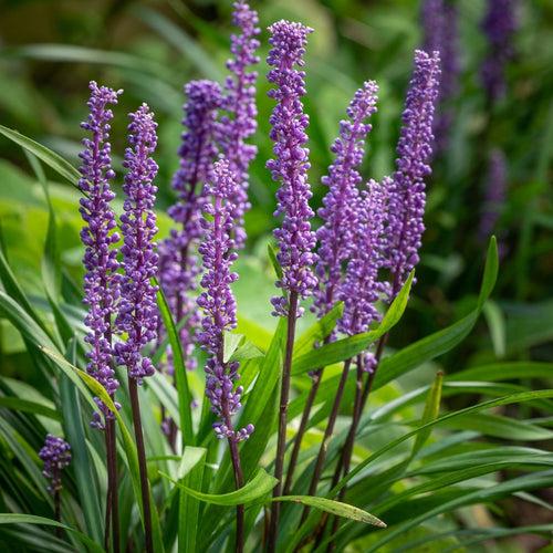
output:
[[[204,481],[204,469],[206,467],[205,448],[187,447],[178,470],[179,482],[192,490],[201,489]],[[200,501],[179,490],[178,510],[178,551],[179,553],[195,553],[198,551],[198,528]]]

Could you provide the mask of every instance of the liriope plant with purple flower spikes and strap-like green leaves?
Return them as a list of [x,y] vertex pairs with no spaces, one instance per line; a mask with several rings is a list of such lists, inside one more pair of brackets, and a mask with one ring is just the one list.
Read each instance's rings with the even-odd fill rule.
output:
[[[397,160],[362,176],[377,84],[355,93],[332,146],[316,220],[302,104],[312,29],[272,24],[267,163],[278,186],[268,262],[272,333],[241,323],[233,265],[244,253],[257,128],[257,13],[234,4],[230,75],[186,85],[174,228],[156,243],[156,123],[131,114],[123,205],[112,182],[112,107],[91,83],[81,167],[19,133],[49,205],[44,293],[29,295],[0,249],[0,315],[24,341],[36,385],[0,376],[0,543],[29,551],[404,551],[468,547],[552,524],[476,528],[462,508],[553,484],[553,390],[545,363],[470,366],[409,387],[474,327],[493,290],[492,238],[479,295],[462,319],[387,348],[416,281],[430,174],[438,52],[417,51]],[[112,106],[112,107],[109,107]],[[42,164],[80,190],[84,293],[64,271]],[[321,223],[315,231],[315,225]],[[255,291],[251,290],[254,294]],[[310,307],[315,317],[301,326]],[[248,314],[244,314],[247,320]],[[304,319],[307,319],[305,316]],[[243,332],[242,332],[243,331]],[[425,372],[428,374],[428,372]],[[468,407],[440,414],[442,397]],[[525,419],[503,406],[526,403]],[[465,403],[467,405],[467,403]],[[538,414],[538,416],[535,416]],[[505,440],[501,447],[497,441]],[[522,446],[512,442],[521,441]]]

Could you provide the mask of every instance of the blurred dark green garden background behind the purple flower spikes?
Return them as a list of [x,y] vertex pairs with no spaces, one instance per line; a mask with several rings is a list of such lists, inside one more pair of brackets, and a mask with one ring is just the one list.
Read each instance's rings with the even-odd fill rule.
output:
[[[400,345],[427,335],[471,309],[488,237],[495,233],[502,261],[494,301],[462,352],[445,361],[448,371],[477,359],[553,359],[553,2],[515,3],[505,93],[490,100],[481,66],[499,54],[490,50],[482,31],[487,4],[457,2],[459,72],[452,93],[440,105],[450,117],[447,145],[436,154],[428,179],[427,232],[416,293],[392,342]],[[271,156],[272,109],[264,63],[268,24],[289,18],[315,29],[305,66],[314,207],[324,194],[320,179],[332,160],[328,148],[338,121],[366,79],[376,80],[380,93],[364,176],[378,179],[393,171],[413,53],[425,36],[421,7],[413,0],[271,0],[252,6],[263,30],[254,140],[259,155],[251,171],[253,207],[247,217],[249,242],[240,260],[237,294],[241,313],[270,330],[274,320],[267,302],[273,275],[265,247],[275,226],[275,187],[264,168]],[[170,221],[164,211],[173,202],[170,179],[178,165],[182,85],[190,79],[225,79],[232,32],[230,0],[2,0],[0,7],[0,123],[77,165],[88,81],[122,87],[125,94],[112,134],[119,167],[125,114],[148,102],[159,122],[158,207],[165,236]],[[494,155],[502,158],[502,177],[493,173]],[[46,204],[22,150],[0,137],[0,219],[8,254],[40,301]],[[56,182],[54,174],[49,177],[64,268],[79,283],[79,195]],[[0,324],[1,371],[24,371],[23,344],[4,321]]]

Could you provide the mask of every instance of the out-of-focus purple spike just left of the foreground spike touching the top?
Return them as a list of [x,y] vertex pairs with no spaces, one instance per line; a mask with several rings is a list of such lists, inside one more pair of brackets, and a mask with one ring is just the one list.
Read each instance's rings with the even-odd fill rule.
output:
[[189,371],[196,368],[194,334],[199,323],[196,302],[190,292],[197,288],[200,273],[196,249],[202,234],[201,211],[206,202],[204,184],[210,179],[217,154],[217,114],[221,107],[220,86],[212,81],[191,81],[185,86],[182,142],[178,150],[180,168],[173,179],[178,201],[168,210],[179,228],[159,244],[159,278],[170,307],[179,321],[187,317],[180,330],[180,341]]

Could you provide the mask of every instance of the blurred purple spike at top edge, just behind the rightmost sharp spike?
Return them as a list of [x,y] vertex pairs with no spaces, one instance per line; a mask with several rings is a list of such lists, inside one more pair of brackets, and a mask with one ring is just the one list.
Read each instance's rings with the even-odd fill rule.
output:
[[438,91],[440,108],[434,122],[435,149],[444,152],[453,118],[448,102],[459,87],[458,8],[450,0],[425,0],[422,3],[424,50],[438,51],[441,60],[441,80]]

